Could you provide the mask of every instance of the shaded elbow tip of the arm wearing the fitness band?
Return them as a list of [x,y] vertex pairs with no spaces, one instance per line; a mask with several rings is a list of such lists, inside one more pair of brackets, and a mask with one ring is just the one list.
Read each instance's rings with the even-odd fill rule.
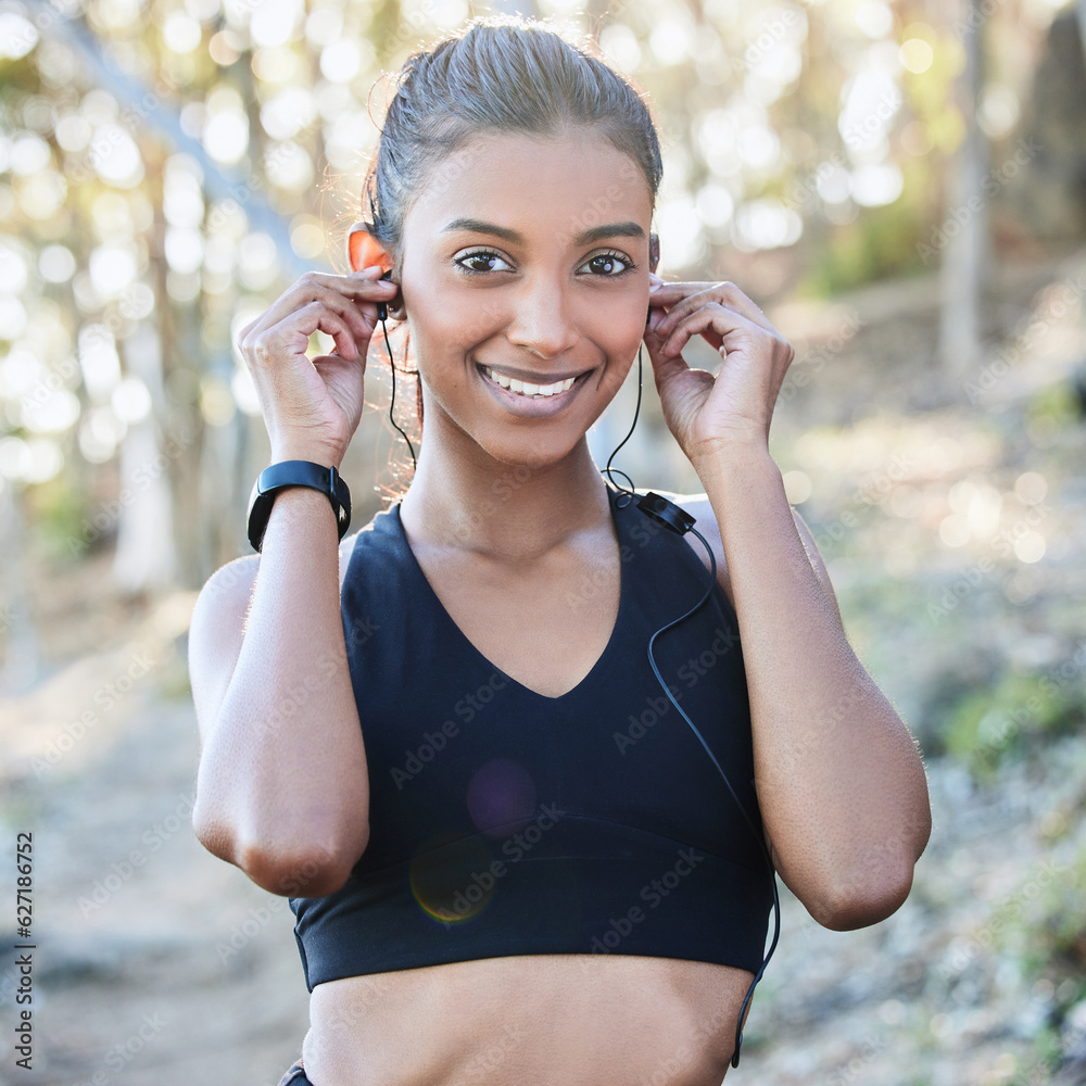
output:
[[199,799],[192,825],[213,856],[232,863],[269,894],[325,897],[342,889],[366,850],[369,828],[353,833],[312,833],[304,838],[240,831],[204,811]]

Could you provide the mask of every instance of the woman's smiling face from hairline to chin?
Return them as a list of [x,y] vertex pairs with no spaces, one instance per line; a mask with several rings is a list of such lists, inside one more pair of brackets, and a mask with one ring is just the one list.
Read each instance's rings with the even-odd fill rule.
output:
[[400,278],[427,434],[505,464],[567,455],[644,334],[652,212],[634,162],[586,129],[485,134],[442,160]]

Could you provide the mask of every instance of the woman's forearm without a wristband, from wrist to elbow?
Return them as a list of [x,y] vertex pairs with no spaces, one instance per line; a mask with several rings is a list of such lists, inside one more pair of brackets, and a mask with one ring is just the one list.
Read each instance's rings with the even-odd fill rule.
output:
[[837,924],[858,925],[850,908],[871,922],[864,908],[900,904],[877,898],[902,884],[908,892],[931,830],[915,744],[849,646],[769,452],[734,446],[698,473],[732,583],[758,799],[778,868]]

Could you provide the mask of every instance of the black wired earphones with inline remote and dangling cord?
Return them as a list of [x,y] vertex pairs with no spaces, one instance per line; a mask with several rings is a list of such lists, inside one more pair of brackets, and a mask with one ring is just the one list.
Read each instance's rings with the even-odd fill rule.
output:
[[[392,273],[386,272],[384,275],[381,276],[381,278],[391,281]],[[653,314],[653,308],[652,306],[649,306],[648,316],[645,318],[646,326],[649,319],[652,318],[652,314]],[[417,464],[415,459],[415,450],[411,443],[411,439],[407,437],[406,433],[404,433],[403,430],[400,429],[400,426],[396,424],[395,418],[393,418],[392,416],[392,406],[395,403],[395,394],[396,394],[396,367],[392,358],[392,348],[389,344],[388,329],[384,326],[384,321],[388,319],[388,305],[384,302],[377,303],[377,316],[378,319],[381,321],[381,328],[384,331],[384,344],[388,348],[389,352],[389,364],[392,366],[392,400],[389,403],[389,418],[391,419],[392,425],[397,430],[400,430],[401,434],[403,434],[404,441],[407,442],[407,447],[411,450],[411,455],[412,455],[412,466],[416,467]],[[711,759],[712,765],[717,767],[717,772],[720,773],[720,775],[723,778],[724,784],[727,785],[728,791],[731,793],[732,798],[735,800],[735,805],[736,807],[738,807],[740,813],[743,816],[744,822],[746,822],[750,832],[754,834],[755,839],[758,842],[758,847],[760,848],[761,854],[766,860],[766,866],[770,875],[770,885],[773,892],[773,910],[774,910],[773,939],[772,943],[770,944],[769,951],[765,955],[762,963],[758,968],[758,972],[755,974],[754,980],[750,982],[750,986],[747,988],[746,996],[743,999],[743,1005],[740,1008],[738,1019],[735,1023],[735,1047],[732,1052],[731,1065],[733,1068],[737,1068],[740,1064],[740,1049],[743,1045],[743,1020],[746,1015],[747,1008],[750,1006],[750,1000],[754,998],[755,986],[758,984],[758,982],[765,974],[766,967],[769,965],[769,960],[770,958],[773,957],[773,951],[776,949],[776,944],[778,940],[780,939],[781,901],[776,888],[776,871],[773,868],[773,861],[769,855],[769,850],[766,847],[766,842],[762,835],[758,832],[757,828],[755,826],[754,820],[747,813],[746,808],[743,806],[743,803],[740,800],[738,795],[732,787],[731,781],[728,780],[728,774],[723,771],[723,769],[721,769],[720,762],[717,760],[717,757],[716,755],[714,755],[708,743],[705,742],[705,738],[703,737],[702,733],[697,730],[697,728],[694,725],[694,722],[690,719],[690,717],[686,716],[686,714],[683,711],[682,706],[679,705],[679,703],[675,700],[674,695],[671,693],[671,689],[664,681],[664,677],[660,674],[660,670],[656,665],[656,659],[653,656],[653,645],[656,639],[665,631],[670,630],[672,627],[678,626],[680,622],[690,618],[690,616],[693,615],[699,607],[702,607],[702,605],[705,604],[705,602],[709,598],[712,592],[712,588],[717,583],[717,559],[712,553],[712,548],[709,546],[705,536],[694,528],[694,525],[696,523],[694,517],[692,517],[685,509],[675,505],[674,502],[671,502],[668,498],[661,496],[660,494],[656,494],[652,491],[639,497],[637,494],[634,493],[633,480],[621,469],[611,467],[611,462],[615,459],[615,456],[618,454],[618,451],[630,440],[631,435],[633,434],[634,428],[637,425],[637,416],[641,414],[641,392],[642,392],[642,377],[643,377],[641,351],[642,348],[639,346],[637,348],[637,404],[633,413],[633,422],[630,424],[630,429],[627,432],[627,435],[615,446],[615,450],[614,452],[611,452],[610,456],[607,457],[607,466],[603,468],[603,471],[601,473],[606,475],[608,481],[614,487],[616,487],[617,490],[621,492],[619,496],[615,500],[616,505],[618,505],[620,508],[626,508],[627,506],[629,506],[631,502],[636,500],[637,508],[641,509],[641,512],[644,513],[645,516],[649,517],[652,520],[674,532],[677,535],[685,535],[686,532],[691,532],[694,535],[696,535],[697,539],[700,540],[702,546],[705,547],[706,553],[709,556],[709,583],[706,586],[705,593],[702,595],[702,598],[698,599],[698,602],[694,604],[693,607],[690,608],[690,610],[687,610],[684,615],[680,615],[679,618],[673,619],[666,626],[661,626],[648,639],[648,662],[652,666],[653,673],[656,675],[656,680],[657,682],[659,682],[660,687],[662,689],[665,695],[668,697],[671,704],[679,710],[679,715],[682,717],[682,719],[685,720],[686,723],[690,725],[691,730],[697,736],[698,742],[705,748],[705,753]],[[616,483],[613,478],[615,475],[621,476],[623,479],[626,479],[626,481],[630,485],[622,487],[621,484]]]

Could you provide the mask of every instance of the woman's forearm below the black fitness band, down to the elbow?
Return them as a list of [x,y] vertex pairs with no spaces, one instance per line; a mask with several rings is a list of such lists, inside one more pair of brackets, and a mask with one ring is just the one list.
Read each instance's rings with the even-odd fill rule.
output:
[[308,856],[342,875],[365,849],[369,786],[340,613],[338,533],[318,491],[287,489],[272,507],[197,794],[198,813],[220,838],[213,850],[266,888]]

